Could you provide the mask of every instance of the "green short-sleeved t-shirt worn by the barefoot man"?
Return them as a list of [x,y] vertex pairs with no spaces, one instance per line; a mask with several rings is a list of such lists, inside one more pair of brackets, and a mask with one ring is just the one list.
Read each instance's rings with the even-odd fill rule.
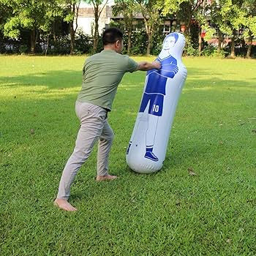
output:
[[111,110],[118,84],[125,72],[134,72],[138,63],[114,50],[102,50],[86,59],[79,102]]

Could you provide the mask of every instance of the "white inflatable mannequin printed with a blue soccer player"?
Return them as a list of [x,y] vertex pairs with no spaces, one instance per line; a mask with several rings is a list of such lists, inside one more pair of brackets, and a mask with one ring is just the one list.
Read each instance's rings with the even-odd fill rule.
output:
[[181,61],[183,34],[165,37],[156,61],[161,69],[147,72],[139,113],[127,148],[127,164],[137,173],[154,173],[162,168],[178,98],[187,78]]

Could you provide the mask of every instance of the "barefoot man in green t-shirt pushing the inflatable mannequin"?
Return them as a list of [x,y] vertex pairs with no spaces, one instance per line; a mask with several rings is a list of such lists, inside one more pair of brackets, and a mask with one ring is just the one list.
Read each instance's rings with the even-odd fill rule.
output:
[[59,193],[54,201],[56,206],[65,211],[77,210],[67,201],[70,186],[98,140],[96,180],[107,181],[117,178],[108,173],[108,155],[113,142],[113,131],[108,124],[107,116],[124,73],[161,68],[157,61],[136,63],[129,56],[121,55],[123,34],[119,29],[106,29],[102,41],[104,50],[86,59],[83,65],[82,89],[75,104],[80,129],[75,149],[64,167]]

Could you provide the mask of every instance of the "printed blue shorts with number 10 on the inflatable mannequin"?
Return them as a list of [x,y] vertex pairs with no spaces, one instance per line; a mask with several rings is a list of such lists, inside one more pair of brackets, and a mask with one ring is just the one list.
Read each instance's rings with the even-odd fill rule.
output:
[[164,104],[164,95],[162,94],[143,94],[139,112],[144,112],[148,101],[150,101],[148,114],[162,116],[162,106]]

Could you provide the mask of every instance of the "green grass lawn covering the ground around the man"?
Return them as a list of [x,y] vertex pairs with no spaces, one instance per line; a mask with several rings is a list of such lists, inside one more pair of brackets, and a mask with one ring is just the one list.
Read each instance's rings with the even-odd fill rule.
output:
[[125,161],[145,73],[125,75],[109,116],[121,178],[94,181],[95,148],[72,186],[79,211],[67,213],[53,199],[78,132],[83,61],[0,56],[0,255],[256,255],[256,62],[184,59],[167,157],[151,175]]

